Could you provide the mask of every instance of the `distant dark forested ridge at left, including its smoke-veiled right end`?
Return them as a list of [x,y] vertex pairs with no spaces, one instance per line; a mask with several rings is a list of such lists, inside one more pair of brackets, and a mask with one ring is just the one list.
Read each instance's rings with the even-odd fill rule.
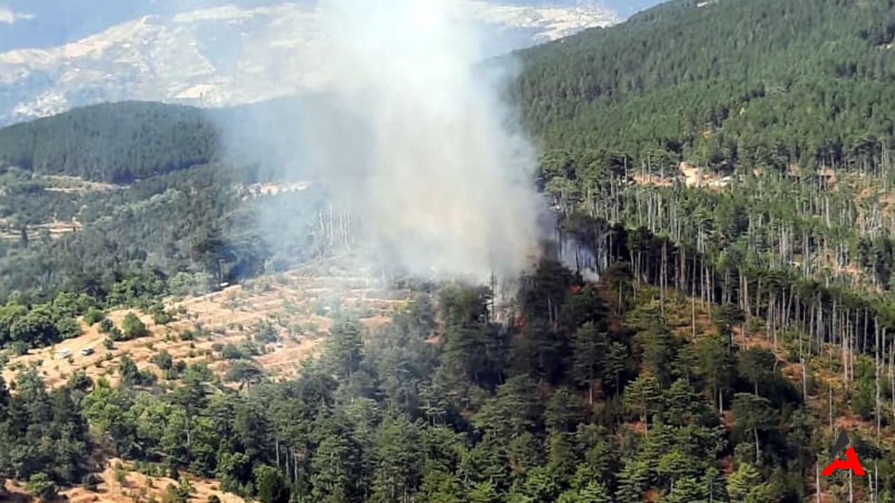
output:
[[0,167],[131,184],[226,162],[255,181],[283,177],[290,173],[277,165],[294,161],[287,158],[294,151],[279,151],[294,143],[286,118],[324,116],[332,107],[328,95],[310,94],[215,109],[140,101],[75,108],[0,129]]

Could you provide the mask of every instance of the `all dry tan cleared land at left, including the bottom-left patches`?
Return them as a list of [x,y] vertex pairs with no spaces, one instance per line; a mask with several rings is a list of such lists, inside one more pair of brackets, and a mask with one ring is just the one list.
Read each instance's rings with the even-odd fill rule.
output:
[[[298,374],[303,360],[320,353],[328,329],[339,313],[359,317],[368,328],[381,326],[388,323],[391,313],[405,304],[410,295],[409,291],[376,288],[371,280],[362,277],[311,276],[302,271],[264,277],[246,286],[230,286],[214,294],[169,299],[166,308],[176,313],[176,319],[167,325],[155,324],[152,316],[141,311],[110,312],[107,318],[115,322],[116,327],[121,327],[124,316],[130,311],[149,329],[149,336],[116,342],[112,349],[105,347],[107,335],[99,332],[98,324],[91,327],[81,320],[84,330],[81,337],[14,357],[4,367],[3,375],[10,382],[19,371],[34,365],[50,387],[64,384],[77,371],[85,371],[93,379],[102,377],[115,385],[121,379],[118,368],[122,356],[128,354],[141,371],[151,371],[161,381],[163,372],[151,360],[164,351],[171,354],[175,362],[204,362],[209,369],[223,376],[231,362],[223,357],[221,346],[240,346],[246,340],[254,341],[258,328],[267,326],[273,328],[279,342],[255,342],[263,354],[253,356],[252,360],[258,362],[271,379],[287,379]],[[184,334],[187,335],[185,339]],[[94,353],[81,354],[85,348],[93,348]],[[63,349],[69,351],[69,357],[58,355]],[[119,466],[117,470],[116,466]],[[72,503],[161,501],[168,485],[179,483],[162,477],[147,477],[117,459],[108,461],[99,476],[101,482],[97,490],[79,486],[62,494]],[[221,492],[217,481],[190,477],[190,485],[191,502],[204,503],[209,496],[217,495],[222,503],[244,503],[242,498]],[[9,494],[0,500],[33,501],[23,484],[7,482],[6,489]]]

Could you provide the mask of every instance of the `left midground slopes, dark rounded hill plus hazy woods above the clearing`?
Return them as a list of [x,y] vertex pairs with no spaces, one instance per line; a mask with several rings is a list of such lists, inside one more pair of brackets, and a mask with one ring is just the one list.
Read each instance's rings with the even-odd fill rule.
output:
[[319,256],[335,232],[319,228],[325,188],[270,162],[273,135],[246,128],[222,148],[225,124],[303,103],[123,102],[0,129],[0,298],[105,298],[134,277],[207,290]]

